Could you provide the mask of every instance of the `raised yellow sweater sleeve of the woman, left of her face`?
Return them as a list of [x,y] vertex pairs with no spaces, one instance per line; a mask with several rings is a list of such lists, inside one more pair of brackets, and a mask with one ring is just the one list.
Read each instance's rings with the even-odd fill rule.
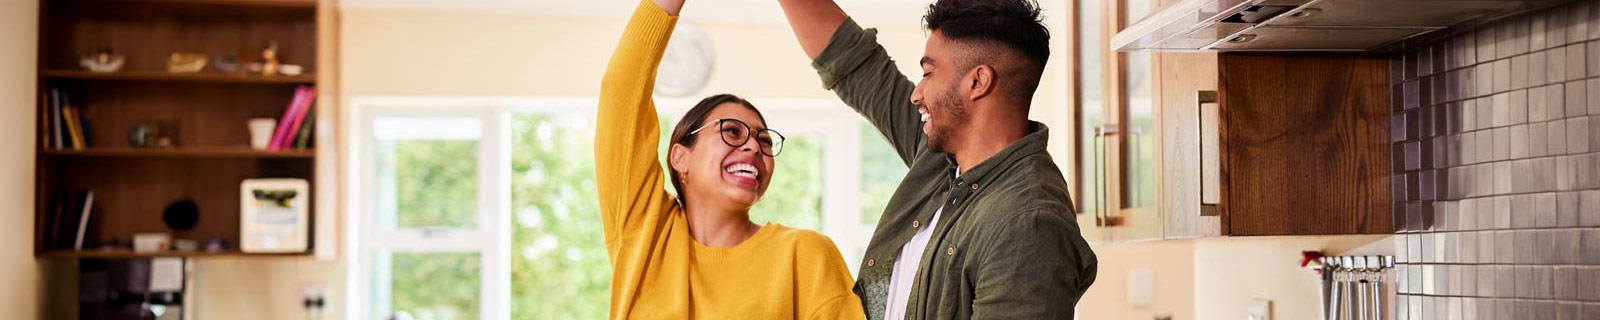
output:
[[613,262],[627,261],[632,256],[629,251],[650,246],[634,242],[658,238],[654,235],[662,232],[674,203],[656,162],[661,128],[651,88],[677,19],[650,0],[640,2],[600,83],[595,184]]

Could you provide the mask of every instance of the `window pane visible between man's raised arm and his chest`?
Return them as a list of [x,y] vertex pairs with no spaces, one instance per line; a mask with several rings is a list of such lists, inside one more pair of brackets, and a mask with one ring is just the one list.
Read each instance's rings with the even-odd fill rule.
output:
[[861,222],[870,230],[906,179],[906,162],[872,123],[861,125]]

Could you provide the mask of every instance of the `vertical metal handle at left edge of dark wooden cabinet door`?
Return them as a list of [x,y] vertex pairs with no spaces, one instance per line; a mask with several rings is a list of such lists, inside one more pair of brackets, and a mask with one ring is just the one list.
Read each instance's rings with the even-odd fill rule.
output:
[[1197,139],[1200,142],[1200,216],[1218,216],[1222,202],[1222,136],[1219,125],[1222,110],[1216,91],[1202,90],[1195,104]]

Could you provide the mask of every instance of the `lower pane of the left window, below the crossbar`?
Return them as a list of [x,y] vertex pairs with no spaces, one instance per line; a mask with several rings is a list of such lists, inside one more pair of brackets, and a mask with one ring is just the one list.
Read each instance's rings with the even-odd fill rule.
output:
[[390,256],[394,315],[416,320],[478,318],[482,262],[477,253],[394,253]]

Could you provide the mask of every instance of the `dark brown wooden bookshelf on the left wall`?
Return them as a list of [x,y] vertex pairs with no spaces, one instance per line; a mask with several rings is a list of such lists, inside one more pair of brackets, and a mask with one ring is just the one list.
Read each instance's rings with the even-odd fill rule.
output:
[[[35,256],[46,259],[144,258],[282,258],[304,253],[242,253],[240,182],[256,178],[298,178],[312,186],[312,226],[318,202],[317,168],[326,168],[315,147],[333,141],[331,0],[51,0],[40,3],[40,136],[35,147]],[[202,53],[214,64],[232,56],[242,64],[261,61],[267,43],[278,45],[283,64],[299,75],[219,72],[171,74],[171,53]],[[125,62],[117,72],[90,72],[78,59],[110,48]],[[259,150],[250,147],[250,118],[283,118],[296,88],[315,86],[317,102],[307,118],[314,128],[306,147]],[[56,147],[50,134],[53,91],[70,99],[86,128],[82,147]],[[130,130],[158,128],[170,146],[136,147]],[[330,133],[323,133],[330,131]],[[154,141],[152,141],[154,144]],[[62,246],[58,202],[93,190],[83,250]],[[323,192],[326,194],[326,192]],[[194,229],[173,230],[162,211],[192,200],[200,219]],[[221,251],[134,253],[134,234],[160,232],[205,243],[224,242]],[[310,232],[315,234],[315,232]],[[312,237],[312,235],[307,235]]]

